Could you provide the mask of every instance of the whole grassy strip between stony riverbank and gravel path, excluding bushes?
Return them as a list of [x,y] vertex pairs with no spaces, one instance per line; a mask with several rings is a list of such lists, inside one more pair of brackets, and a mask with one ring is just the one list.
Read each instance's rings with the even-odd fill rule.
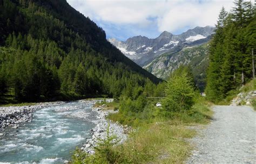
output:
[[[137,129],[129,134],[124,144],[116,145],[104,152],[112,156],[113,163],[184,163],[191,154],[193,147],[187,139],[196,136],[196,131],[189,129],[189,125],[207,124],[213,112],[208,108],[211,104],[200,98],[193,108],[186,113],[173,113],[170,118],[131,119],[130,123]],[[109,118],[114,122],[123,120],[122,113],[114,113]],[[131,117],[133,118],[133,117]],[[134,123],[139,121],[138,124]],[[120,122],[120,121],[119,121]],[[127,122],[123,122],[123,124]],[[76,152],[79,157],[88,157],[83,152]],[[100,160],[100,154],[90,156]],[[75,157],[76,158],[76,157]],[[82,162],[81,159],[72,163]],[[97,163],[97,162],[96,162]],[[104,162],[103,162],[104,163]],[[108,162],[105,162],[108,163]]]

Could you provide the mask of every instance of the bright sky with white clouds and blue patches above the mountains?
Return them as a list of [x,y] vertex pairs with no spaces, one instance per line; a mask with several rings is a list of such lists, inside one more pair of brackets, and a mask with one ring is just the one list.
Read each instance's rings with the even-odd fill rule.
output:
[[180,34],[196,26],[214,26],[222,6],[234,0],[67,0],[102,27],[107,38],[126,40],[143,35],[156,38],[163,31]]

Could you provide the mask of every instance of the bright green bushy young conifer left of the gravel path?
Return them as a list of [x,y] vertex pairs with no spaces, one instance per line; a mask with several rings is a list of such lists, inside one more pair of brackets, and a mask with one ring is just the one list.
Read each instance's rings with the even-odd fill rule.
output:
[[170,112],[185,112],[190,110],[195,103],[192,80],[185,72],[170,78],[165,94],[166,97],[162,101],[164,115],[168,115]]

